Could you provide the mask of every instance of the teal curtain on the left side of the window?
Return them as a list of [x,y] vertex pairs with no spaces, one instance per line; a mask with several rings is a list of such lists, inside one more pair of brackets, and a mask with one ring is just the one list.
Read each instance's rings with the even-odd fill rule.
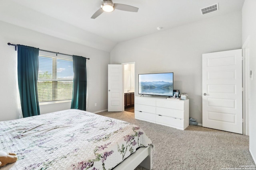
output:
[[39,49],[18,46],[18,86],[23,117],[40,115],[37,79]]

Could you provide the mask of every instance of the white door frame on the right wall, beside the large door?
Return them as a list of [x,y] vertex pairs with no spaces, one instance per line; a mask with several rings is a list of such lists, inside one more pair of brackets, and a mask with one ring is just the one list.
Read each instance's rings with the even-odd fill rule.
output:
[[[249,36],[242,45],[242,56],[243,56],[243,135],[250,134],[250,50],[248,55],[245,53],[245,49],[249,49]],[[246,99],[247,98],[247,99]]]

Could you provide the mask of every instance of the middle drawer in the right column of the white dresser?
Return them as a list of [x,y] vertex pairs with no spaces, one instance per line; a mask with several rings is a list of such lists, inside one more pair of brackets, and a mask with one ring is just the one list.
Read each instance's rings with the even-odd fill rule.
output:
[[183,110],[156,107],[156,114],[184,119],[184,111]]

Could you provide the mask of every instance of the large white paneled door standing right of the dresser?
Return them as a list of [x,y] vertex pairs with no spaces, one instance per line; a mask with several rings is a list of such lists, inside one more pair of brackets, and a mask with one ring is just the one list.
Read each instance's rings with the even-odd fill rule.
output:
[[242,134],[242,49],[202,55],[203,127]]

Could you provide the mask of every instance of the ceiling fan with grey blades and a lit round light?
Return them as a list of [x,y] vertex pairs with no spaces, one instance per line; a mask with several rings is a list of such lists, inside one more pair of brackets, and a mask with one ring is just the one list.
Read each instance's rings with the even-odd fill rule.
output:
[[112,0],[102,0],[102,4],[100,6],[100,9],[98,9],[93,15],[92,19],[97,18],[100,14],[103,12],[113,12],[115,9],[122,10],[122,11],[128,11],[128,12],[138,12],[139,8],[136,8],[134,6],[125,5],[125,4],[114,4]]

